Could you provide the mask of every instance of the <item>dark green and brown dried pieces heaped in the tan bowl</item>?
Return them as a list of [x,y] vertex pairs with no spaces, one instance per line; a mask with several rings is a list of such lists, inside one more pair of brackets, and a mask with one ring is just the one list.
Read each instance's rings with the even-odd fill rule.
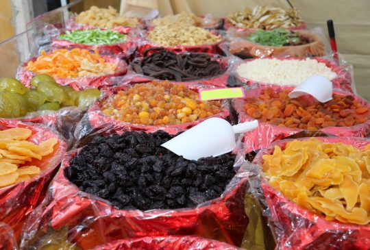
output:
[[260,45],[281,47],[289,43],[297,44],[299,42],[299,34],[297,32],[289,32],[286,29],[259,29],[254,34],[249,35],[247,39]]

